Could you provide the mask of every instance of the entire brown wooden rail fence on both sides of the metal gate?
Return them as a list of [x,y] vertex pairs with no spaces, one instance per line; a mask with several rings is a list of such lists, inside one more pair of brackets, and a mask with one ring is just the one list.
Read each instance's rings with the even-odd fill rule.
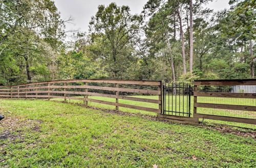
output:
[[[110,85],[111,86],[104,86]],[[137,87],[134,87],[137,86]],[[209,87],[226,87],[225,91],[215,92],[215,91],[199,91],[198,89],[207,86]],[[196,80],[194,85],[194,113],[193,117],[187,117],[186,122],[189,123],[190,120],[195,120],[198,122],[199,118],[210,119],[210,120],[221,120],[228,122],[239,122],[246,124],[256,124],[256,92],[253,93],[232,93],[230,88],[233,86],[254,86],[256,89],[256,79],[242,79],[242,80]],[[206,88],[207,88],[206,87]],[[134,89],[136,88],[136,89]],[[227,89],[228,88],[228,89]],[[79,89],[79,91],[77,91]],[[75,90],[75,91],[74,91]],[[101,92],[102,91],[102,92]],[[103,91],[109,91],[112,94],[104,93]],[[139,95],[157,95],[158,99],[141,98],[136,96],[127,96],[127,93],[139,94]],[[114,79],[74,79],[74,80],[57,80],[57,81],[46,81],[46,82],[36,82],[28,83],[24,85],[17,86],[0,86],[0,97],[9,98],[60,98],[60,99],[73,99],[82,100],[86,106],[88,102],[96,102],[102,104],[108,104],[118,107],[126,107],[137,110],[151,111],[157,113],[158,116],[162,115],[162,96],[163,96],[163,82],[162,81],[148,81],[148,80],[114,80]],[[55,95],[54,95],[55,94]],[[79,96],[80,95],[80,96]],[[82,96],[81,96],[82,95]],[[94,97],[89,98],[89,96],[99,96],[106,98],[114,98],[115,102],[97,100]],[[199,102],[198,98],[206,100],[207,98],[224,98],[224,99],[240,99],[252,100],[249,105],[236,104],[236,102],[225,103],[225,100],[212,101],[212,102]],[[151,108],[144,104],[144,106],[124,104],[120,103],[119,99],[139,101],[144,103],[154,103],[158,104],[158,108]],[[238,100],[239,99],[239,100]],[[198,109],[201,108],[205,113],[201,113]],[[210,109],[224,110],[222,114],[210,114],[208,113]],[[230,112],[231,111],[231,112]],[[239,113],[244,114],[244,111],[249,111],[250,113],[246,117],[237,117]],[[233,115],[233,116],[232,116]],[[165,115],[170,118],[177,118],[177,116]],[[160,117],[161,118],[161,117]],[[175,118],[175,119],[176,119]],[[176,119],[177,120],[177,119]]]

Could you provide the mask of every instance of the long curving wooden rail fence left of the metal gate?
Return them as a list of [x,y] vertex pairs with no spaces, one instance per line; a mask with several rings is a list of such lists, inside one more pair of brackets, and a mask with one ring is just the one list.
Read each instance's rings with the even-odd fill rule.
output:
[[[92,86],[93,84],[114,84],[114,87],[104,87],[104,86]],[[74,85],[75,84],[75,85]],[[91,84],[91,85],[90,85]],[[120,88],[119,85],[136,85],[136,86],[149,86],[157,87],[155,90],[151,89],[131,89],[131,88]],[[88,102],[96,102],[118,107],[133,108],[138,110],[151,111],[154,113],[161,113],[162,110],[162,92],[161,87],[162,81],[149,81],[149,80],[112,80],[112,79],[74,79],[74,80],[57,80],[57,81],[47,81],[47,82],[36,82],[28,83],[24,85],[17,86],[0,86],[0,97],[22,97],[22,98],[60,98],[60,99],[73,99],[73,100],[82,100],[84,104],[88,106]],[[83,91],[68,91],[69,89],[82,89]],[[90,90],[103,90],[103,91],[112,91],[114,94],[104,94],[97,92],[89,92]],[[137,94],[146,94],[146,95],[158,95],[158,100],[156,99],[147,99],[139,98],[132,96],[120,95],[122,93],[137,93]],[[52,95],[52,94],[58,94]],[[68,94],[76,96],[68,96]],[[60,96],[61,95],[61,96]],[[83,95],[83,97],[78,97],[77,95]],[[115,102],[103,101],[97,99],[88,98],[88,96],[100,96],[115,98]],[[137,106],[131,104],[119,103],[119,99],[124,100],[133,100],[147,103],[156,103],[159,104],[159,108],[150,108],[145,106]]]

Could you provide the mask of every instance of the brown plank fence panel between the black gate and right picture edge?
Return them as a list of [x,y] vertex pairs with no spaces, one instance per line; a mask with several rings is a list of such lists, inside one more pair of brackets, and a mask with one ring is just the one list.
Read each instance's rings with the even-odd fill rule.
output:
[[256,79],[195,80],[194,117],[256,124]]

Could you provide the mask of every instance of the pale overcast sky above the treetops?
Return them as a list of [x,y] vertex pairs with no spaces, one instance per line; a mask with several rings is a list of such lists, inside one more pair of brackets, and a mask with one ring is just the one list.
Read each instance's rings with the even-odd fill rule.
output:
[[[73,18],[73,24],[67,24],[67,31],[79,30],[81,32],[88,32],[88,25],[91,17],[97,12],[98,5],[109,5],[115,2],[118,6],[127,5],[131,9],[131,13],[139,14],[147,0],[54,0],[61,18]],[[229,8],[229,0],[214,0],[207,5],[208,8],[215,11]]]

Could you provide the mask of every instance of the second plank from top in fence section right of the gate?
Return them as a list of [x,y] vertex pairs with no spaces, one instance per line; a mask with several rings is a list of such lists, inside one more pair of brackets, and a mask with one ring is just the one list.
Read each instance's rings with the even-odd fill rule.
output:
[[256,93],[194,92],[194,96],[227,97],[227,98],[256,98]]

